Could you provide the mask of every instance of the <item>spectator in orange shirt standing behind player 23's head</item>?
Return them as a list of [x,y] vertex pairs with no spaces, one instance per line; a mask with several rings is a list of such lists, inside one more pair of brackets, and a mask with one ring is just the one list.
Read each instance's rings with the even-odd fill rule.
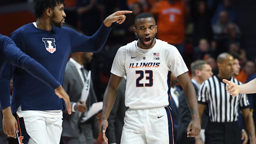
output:
[[150,13],[156,17],[156,37],[174,45],[185,58],[185,19],[188,17],[186,4],[179,0],[156,2]]

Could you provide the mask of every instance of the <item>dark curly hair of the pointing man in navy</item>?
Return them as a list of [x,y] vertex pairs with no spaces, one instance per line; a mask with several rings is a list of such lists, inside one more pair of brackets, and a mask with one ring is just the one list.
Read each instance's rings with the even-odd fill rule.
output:
[[35,0],[34,1],[34,16],[40,18],[43,16],[43,12],[50,8],[54,9],[57,4],[65,4],[65,0]]

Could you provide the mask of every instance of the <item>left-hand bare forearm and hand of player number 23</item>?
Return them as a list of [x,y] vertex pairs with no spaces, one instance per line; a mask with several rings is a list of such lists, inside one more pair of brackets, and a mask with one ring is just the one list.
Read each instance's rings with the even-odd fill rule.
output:
[[108,139],[106,137],[106,129],[108,126],[108,117],[110,115],[111,109],[114,105],[114,101],[116,100],[117,89],[122,81],[122,77],[111,74],[110,80],[107,85],[107,89],[103,98],[103,108],[102,108],[102,119],[101,119],[101,135],[102,139],[106,144],[108,144]]

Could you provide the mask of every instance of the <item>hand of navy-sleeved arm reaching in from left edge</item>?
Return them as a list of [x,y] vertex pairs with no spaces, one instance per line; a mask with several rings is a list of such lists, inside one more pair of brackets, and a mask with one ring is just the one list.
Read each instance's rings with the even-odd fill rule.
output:
[[71,106],[70,106],[70,100],[69,100],[69,95],[66,93],[66,91],[63,89],[62,85],[60,85],[57,89],[54,90],[55,94],[59,98],[63,98],[63,100],[66,103],[66,109],[68,111],[68,114],[71,114]]

